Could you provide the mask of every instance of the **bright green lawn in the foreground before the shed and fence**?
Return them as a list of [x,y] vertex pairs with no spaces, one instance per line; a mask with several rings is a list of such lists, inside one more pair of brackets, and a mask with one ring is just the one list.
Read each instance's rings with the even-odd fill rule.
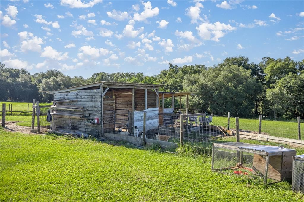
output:
[[[164,153],[0,129],[1,200],[302,201],[288,182],[264,186],[211,171],[205,155]],[[302,153],[303,150],[298,150]]]

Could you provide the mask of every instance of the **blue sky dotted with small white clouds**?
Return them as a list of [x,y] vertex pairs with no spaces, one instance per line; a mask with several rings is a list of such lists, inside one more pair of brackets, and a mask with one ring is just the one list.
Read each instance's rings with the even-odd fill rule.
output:
[[213,66],[230,56],[304,58],[304,1],[1,1],[1,62],[143,72],[168,63]]

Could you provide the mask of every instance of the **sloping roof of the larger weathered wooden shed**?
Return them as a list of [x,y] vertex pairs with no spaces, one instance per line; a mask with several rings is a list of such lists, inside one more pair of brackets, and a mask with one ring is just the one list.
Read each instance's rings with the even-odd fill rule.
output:
[[128,82],[111,82],[111,81],[101,81],[101,82],[96,82],[96,83],[90,83],[90,84],[85,84],[81,86],[74,86],[70,88],[64,88],[64,89],[57,89],[53,91],[48,91],[48,94],[53,94],[53,93],[62,93],[62,92],[67,92],[67,91],[72,91],[72,90],[80,90],[80,89],[88,89],[94,87],[99,88],[100,85],[103,87],[109,87],[109,88],[139,88],[139,89],[158,89],[161,87],[159,84],[150,84],[150,83],[128,83]]

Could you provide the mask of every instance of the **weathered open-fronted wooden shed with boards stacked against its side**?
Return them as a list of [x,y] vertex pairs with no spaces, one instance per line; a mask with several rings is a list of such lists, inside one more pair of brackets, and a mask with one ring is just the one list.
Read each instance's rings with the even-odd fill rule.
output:
[[[89,133],[96,129],[117,133],[120,128],[131,133],[131,126],[142,130],[140,117],[147,112],[146,128],[158,126],[161,85],[96,82],[48,92],[53,95],[52,115],[56,128]],[[98,119],[99,123],[95,123]],[[96,120],[97,121],[97,120]]]

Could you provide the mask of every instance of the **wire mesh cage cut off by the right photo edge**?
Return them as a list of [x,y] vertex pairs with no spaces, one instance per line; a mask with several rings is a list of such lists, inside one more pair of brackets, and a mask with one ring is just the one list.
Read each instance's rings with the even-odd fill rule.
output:
[[292,190],[304,193],[304,154],[293,157]]

